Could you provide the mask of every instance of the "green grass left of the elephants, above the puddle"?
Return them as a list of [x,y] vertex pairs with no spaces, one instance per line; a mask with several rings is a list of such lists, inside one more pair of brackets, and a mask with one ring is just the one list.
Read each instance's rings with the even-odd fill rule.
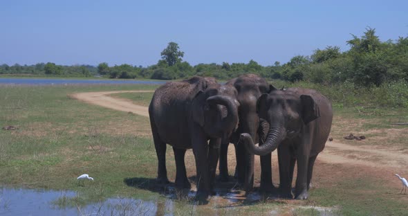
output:
[[0,126],[19,129],[0,130],[0,183],[78,190],[76,177],[89,173],[98,181],[80,189],[92,192],[103,186],[102,195],[109,197],[129,192],[123,183],[126,178],[154,178],[156,167],[151,164],[156,163],[156,153],[150,135],[132,133],[135,123],[147,127],[148,118],[88,105],[67,95],[155,88],[1,87]]

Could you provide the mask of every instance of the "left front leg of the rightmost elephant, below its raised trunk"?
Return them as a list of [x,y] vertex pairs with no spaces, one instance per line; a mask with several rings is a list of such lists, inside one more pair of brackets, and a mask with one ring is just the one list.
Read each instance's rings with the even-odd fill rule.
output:
[[279,163],[279,197],[292,199],[292,161],[293,157],[290,154],[290,149],[286,143],[281,143],[278,147],[278,163]]

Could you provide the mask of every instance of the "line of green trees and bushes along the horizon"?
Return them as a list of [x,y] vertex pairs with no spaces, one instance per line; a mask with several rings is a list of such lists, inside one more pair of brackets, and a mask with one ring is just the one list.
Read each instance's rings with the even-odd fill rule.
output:
[[317,49],[311,55],[297,55],[285,64],[275,62],[271,66],[261,66],[254,60],[248,63],[197,64],[183,62],[184,52],[178,44],[170,42],[161,53],[162,60],[157,64],[142,67],[130,64],[109,66],[100,63],[94,66],[58,66],[35,64],[33,66],[0,66],[0,73],[80,75],[100,74],[109,78],[150,78],[174,80],[192,75],[211,76],[228,80],[244,73],[256,73],[269,80],[289,82],[306,81],[317,84],[336,84],[352,82],[360,87],[378,87],[383,83],[408,81],[408,37],[381,42],[375,29],[367,28],[361,37],[352,35],[346,42],[349,51],[340,51],[337,46]]

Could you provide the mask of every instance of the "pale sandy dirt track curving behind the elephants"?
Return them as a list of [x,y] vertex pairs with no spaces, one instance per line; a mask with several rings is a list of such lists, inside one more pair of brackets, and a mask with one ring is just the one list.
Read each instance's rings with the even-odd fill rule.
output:
[[[141,116],[149,116],[147,107],[135,105],[130,100],[112,98],[109,94],[123,92],[153,92],[153,91],[100,91],[75,93],[72,98],[109,109],[133,112]],[[365,145],[349,145],[331,141],[326,143],[326,148],[317,157],[323,163],[344,163],[350,165],[368,165],[373,167],[401,168],[408,161],[408,154],[389,149],[375,149],[369,141]],[[276,151],[275,151],[276,154]],[[275,157],[276,158],[276,157]]]

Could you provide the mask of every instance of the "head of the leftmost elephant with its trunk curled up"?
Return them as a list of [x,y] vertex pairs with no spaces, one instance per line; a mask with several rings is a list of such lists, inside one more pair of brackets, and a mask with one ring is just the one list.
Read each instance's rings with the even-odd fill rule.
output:
[[213,84],[192,100],[192,118],[211,138],[228,137],[237,129],[237,90]]

